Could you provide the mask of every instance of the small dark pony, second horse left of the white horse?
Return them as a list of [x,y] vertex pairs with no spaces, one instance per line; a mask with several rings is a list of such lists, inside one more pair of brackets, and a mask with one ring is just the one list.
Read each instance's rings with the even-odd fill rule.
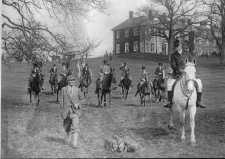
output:
[[[138,83],[137,85],[137,93],[135,97],[139,94],[140,96],[140,104],[146,105],[146,96],[148,97],[149,101],[151,100],[151,83],[144,82],[143,84]],[[150,101],[151,103],[151,101]]]

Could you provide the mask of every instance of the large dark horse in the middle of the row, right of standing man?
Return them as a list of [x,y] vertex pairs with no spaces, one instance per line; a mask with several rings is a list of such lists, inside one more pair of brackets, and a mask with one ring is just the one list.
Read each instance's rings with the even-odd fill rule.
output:
[[100,79],[96,80],[96,91],[98,97],[98,105],[102,105],[102,101],[104,98],[104,106],[106,106],[106,94],[109,94],[109,105],[111,105],[111,85],[113,82],[116,82],[114,79],[113,71],[111,71],[108,75],[105,75],[103,81]]

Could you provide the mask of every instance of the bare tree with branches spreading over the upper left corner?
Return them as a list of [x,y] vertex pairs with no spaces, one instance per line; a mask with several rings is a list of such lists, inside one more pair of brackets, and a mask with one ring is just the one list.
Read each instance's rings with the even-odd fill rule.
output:
[[[104,6],[104,0],[2,0],[3,31],[17,33],[11,34],[10,37],[8,37],[9,34],[2,36],[4,48],[6,52],[9,52],[10,49],[7,47],[18,47],[21,50],[20,53],[27,58],[35,55],[33,51],[38,48],[41,50],[61,48],[62,53],[68,46],[66,37],[54,33],[47,26],[40,24],[35,14],[45,9],[52,18],[76,20],[76,18],[85,16],[90,9],[104,9]],[[12,41],[15,42],[15,39],[18,43],[12,45]],[[29,53],[30,56],[28,56]]]

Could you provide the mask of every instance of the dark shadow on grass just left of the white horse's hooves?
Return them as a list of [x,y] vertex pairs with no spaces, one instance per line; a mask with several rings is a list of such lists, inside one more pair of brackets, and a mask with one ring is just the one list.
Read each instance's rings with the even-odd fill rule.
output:
[[168,136],[169,132],[160,127],[156,128],[138,128],[138,129],[130,129],[135,134],[141,136],[145,140],[155,139],[155,138],[161,138],[163,136]]

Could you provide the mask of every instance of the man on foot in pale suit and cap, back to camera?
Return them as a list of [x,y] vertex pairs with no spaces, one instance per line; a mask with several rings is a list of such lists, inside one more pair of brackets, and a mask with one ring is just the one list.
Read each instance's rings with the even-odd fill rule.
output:
[[72,75],[67,78],[68,85],[62,89],[60,101],[63,127],[66,132],[66,142],[76,148],[79,137],[79,117],[81,115],[81,92],[78,88],[79,80]]

